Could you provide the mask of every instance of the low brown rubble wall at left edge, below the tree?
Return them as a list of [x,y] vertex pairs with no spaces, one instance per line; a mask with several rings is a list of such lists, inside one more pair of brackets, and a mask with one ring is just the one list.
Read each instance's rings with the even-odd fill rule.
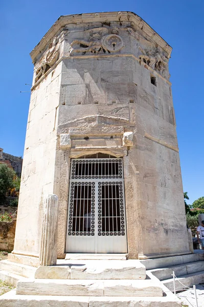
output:
[[0,222],[0,251],[12,251],[14,246],[16,220]]

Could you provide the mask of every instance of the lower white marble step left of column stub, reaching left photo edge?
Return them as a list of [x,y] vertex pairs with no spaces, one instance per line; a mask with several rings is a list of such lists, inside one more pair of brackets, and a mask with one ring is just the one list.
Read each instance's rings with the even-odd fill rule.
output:
[[16,275],[30,277],[30,278],[33,278],[35,276],[35,271],[36,271],[36,268],[34,267],[17,264],[9,260],[0,261],[0,269],[7,272],[11,272]]

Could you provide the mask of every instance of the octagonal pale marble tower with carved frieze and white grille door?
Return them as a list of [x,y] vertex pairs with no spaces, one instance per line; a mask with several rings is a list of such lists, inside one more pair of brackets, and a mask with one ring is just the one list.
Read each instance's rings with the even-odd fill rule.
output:
[[59,17],[31,52],[13,261],[39,256],[53,193],[58,258],[190,253],[171,50],[138,15],[108,12]]

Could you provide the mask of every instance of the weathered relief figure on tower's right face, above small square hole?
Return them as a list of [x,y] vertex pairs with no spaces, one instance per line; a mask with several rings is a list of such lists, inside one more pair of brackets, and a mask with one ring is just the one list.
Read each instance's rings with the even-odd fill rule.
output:
[[143,50],[139,47],[139,50],[142,53],[140,59],[169,80],[168,58],[162,54],[161,49],[158,47],[150,47]]

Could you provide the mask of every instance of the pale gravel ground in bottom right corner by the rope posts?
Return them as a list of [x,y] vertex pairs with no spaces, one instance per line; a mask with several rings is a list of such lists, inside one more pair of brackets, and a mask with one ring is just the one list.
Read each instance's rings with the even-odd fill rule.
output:
[[[197,301],[198,307],[204,306],[204,283],[197,284],[196,286],[196,293],[197,293]],[[176,295],[180,301],[182,301],[184,307],[196,307],[195,304],[195,295],[194,290],[189,289],[183,292],[180,292]]]

